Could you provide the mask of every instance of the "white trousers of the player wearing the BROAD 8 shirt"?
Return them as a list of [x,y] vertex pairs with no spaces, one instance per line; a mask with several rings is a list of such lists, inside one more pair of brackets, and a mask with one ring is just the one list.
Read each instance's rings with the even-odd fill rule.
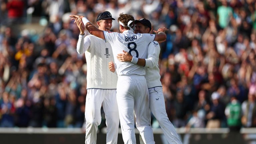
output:
[[117,103],[125,144],[136,144],[134,116],[136,127],[145,144],[154,144],[153,131],[150,125],[149,93],[144,76],[118,76]]

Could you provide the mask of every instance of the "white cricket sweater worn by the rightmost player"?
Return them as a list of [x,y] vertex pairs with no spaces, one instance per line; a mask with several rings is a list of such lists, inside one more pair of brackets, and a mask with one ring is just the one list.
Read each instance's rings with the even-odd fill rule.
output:
[[160,81],[160,70],[158,68],[158,60],[160,54],[160,46],[157,41],[153,41],[148,45],[148,57],[145,59],[146,75],[148,88],[162,86]]

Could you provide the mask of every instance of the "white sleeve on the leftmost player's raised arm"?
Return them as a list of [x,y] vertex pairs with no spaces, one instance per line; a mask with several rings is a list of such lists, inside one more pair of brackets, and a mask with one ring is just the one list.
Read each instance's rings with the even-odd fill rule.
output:
[[91,41],[88,37],[85,35],[79,35],[77,45],[76,45],[76,51],[79,54],[83,54],[85,51],[89,49],[91,45]]

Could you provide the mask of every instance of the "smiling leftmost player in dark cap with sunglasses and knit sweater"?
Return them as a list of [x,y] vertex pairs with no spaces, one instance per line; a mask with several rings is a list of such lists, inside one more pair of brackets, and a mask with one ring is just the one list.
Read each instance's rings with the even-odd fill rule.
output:
[[[83,17],[83,16],[77,16]],[[100,30],[109,31],[112,27],[112,15],[105,11],[97,16]],[[85,144],[96,144],[97,130],[101,123],[101,105],[107,125],[107,144],[117,144],[119,113],[116,100],[117,75],[109,72],[108,62],[114,60],[110,43],[94,35],[85,36],[80,29],[77,52],[85,53],[87,62],[87,95],[85,103],[86,138]]]

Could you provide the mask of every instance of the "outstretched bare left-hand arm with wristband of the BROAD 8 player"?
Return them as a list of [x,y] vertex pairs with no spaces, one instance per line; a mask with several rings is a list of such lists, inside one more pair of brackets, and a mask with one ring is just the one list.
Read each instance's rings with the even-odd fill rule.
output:
[[71,20],[77,18],[79,19],[80,23],[84,23],[85,28],[89,31],[90,34],[105,39],[103,31],[96,28],[86,17],[83,17],[82,19],[77,15],[70,15],[69,17],[71,17]]

